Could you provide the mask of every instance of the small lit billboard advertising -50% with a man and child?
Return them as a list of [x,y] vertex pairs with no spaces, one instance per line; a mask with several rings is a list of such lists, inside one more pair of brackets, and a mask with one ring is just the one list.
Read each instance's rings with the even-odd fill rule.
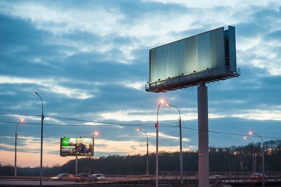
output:
[[93,156],[94,138],[61,138],[60,156]]

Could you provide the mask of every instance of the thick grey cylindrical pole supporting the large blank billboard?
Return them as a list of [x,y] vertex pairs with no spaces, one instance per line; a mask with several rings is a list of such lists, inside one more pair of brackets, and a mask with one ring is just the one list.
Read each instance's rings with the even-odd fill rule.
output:
[[199,187],[209,186],[209,135],[208,135],[208,87],[200,80],[197,87],[198,102],[198,161]]

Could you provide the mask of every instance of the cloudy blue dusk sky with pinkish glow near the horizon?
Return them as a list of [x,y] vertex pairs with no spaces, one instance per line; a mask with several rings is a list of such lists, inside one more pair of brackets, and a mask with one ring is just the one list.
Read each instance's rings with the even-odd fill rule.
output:
[[[63,165],[60,138],[94,136],[94,156],[198,149],[197,86],[152,93],[149,49],[235,27],[241,75],[208,86],[209,146],[281,138],[279,0],[0,1],[0,163]],[[40,97],[33,92],[36,91]],[[24,121],[20,122],[21,119]]]

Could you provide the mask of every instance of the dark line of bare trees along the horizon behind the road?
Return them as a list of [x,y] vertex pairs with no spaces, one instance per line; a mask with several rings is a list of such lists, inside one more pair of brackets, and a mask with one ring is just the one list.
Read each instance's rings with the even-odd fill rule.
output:
[[[156,153],[150,153],[148,158],[149,172],[155,174]],[[160,151],[159,171],[179,171],[180,152]],[[245,146],[231,147],[209,147],[209,171],[262,171],[262,143],[248,144]],[[43,177],[55,176],[59,173],[75,174],[76,160],[67,163],[56,164],[52,167],[43,167]],[[264,142],[264,170],[279,171],[281,169],[281,140],[270,140]],[[79,158],[77,161],[77,173],[88,173],[89,159]],[[105,175],[144,175],[146,172],[145,155],[110,155],[90,159],[91,173],[102,173]],[[183,151],[183,170],[198,171],[198,152]],[[1,176],[14,176],[14,166],[2,164]],[[17,176],[40,176],[40,167],[17,167]]]

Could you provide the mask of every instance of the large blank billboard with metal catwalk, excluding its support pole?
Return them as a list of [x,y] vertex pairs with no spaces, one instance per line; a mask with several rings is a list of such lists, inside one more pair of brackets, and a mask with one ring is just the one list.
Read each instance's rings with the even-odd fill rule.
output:
[[237,77],[235,27],[220,27],[149,50],[145,91],[165,92]]

